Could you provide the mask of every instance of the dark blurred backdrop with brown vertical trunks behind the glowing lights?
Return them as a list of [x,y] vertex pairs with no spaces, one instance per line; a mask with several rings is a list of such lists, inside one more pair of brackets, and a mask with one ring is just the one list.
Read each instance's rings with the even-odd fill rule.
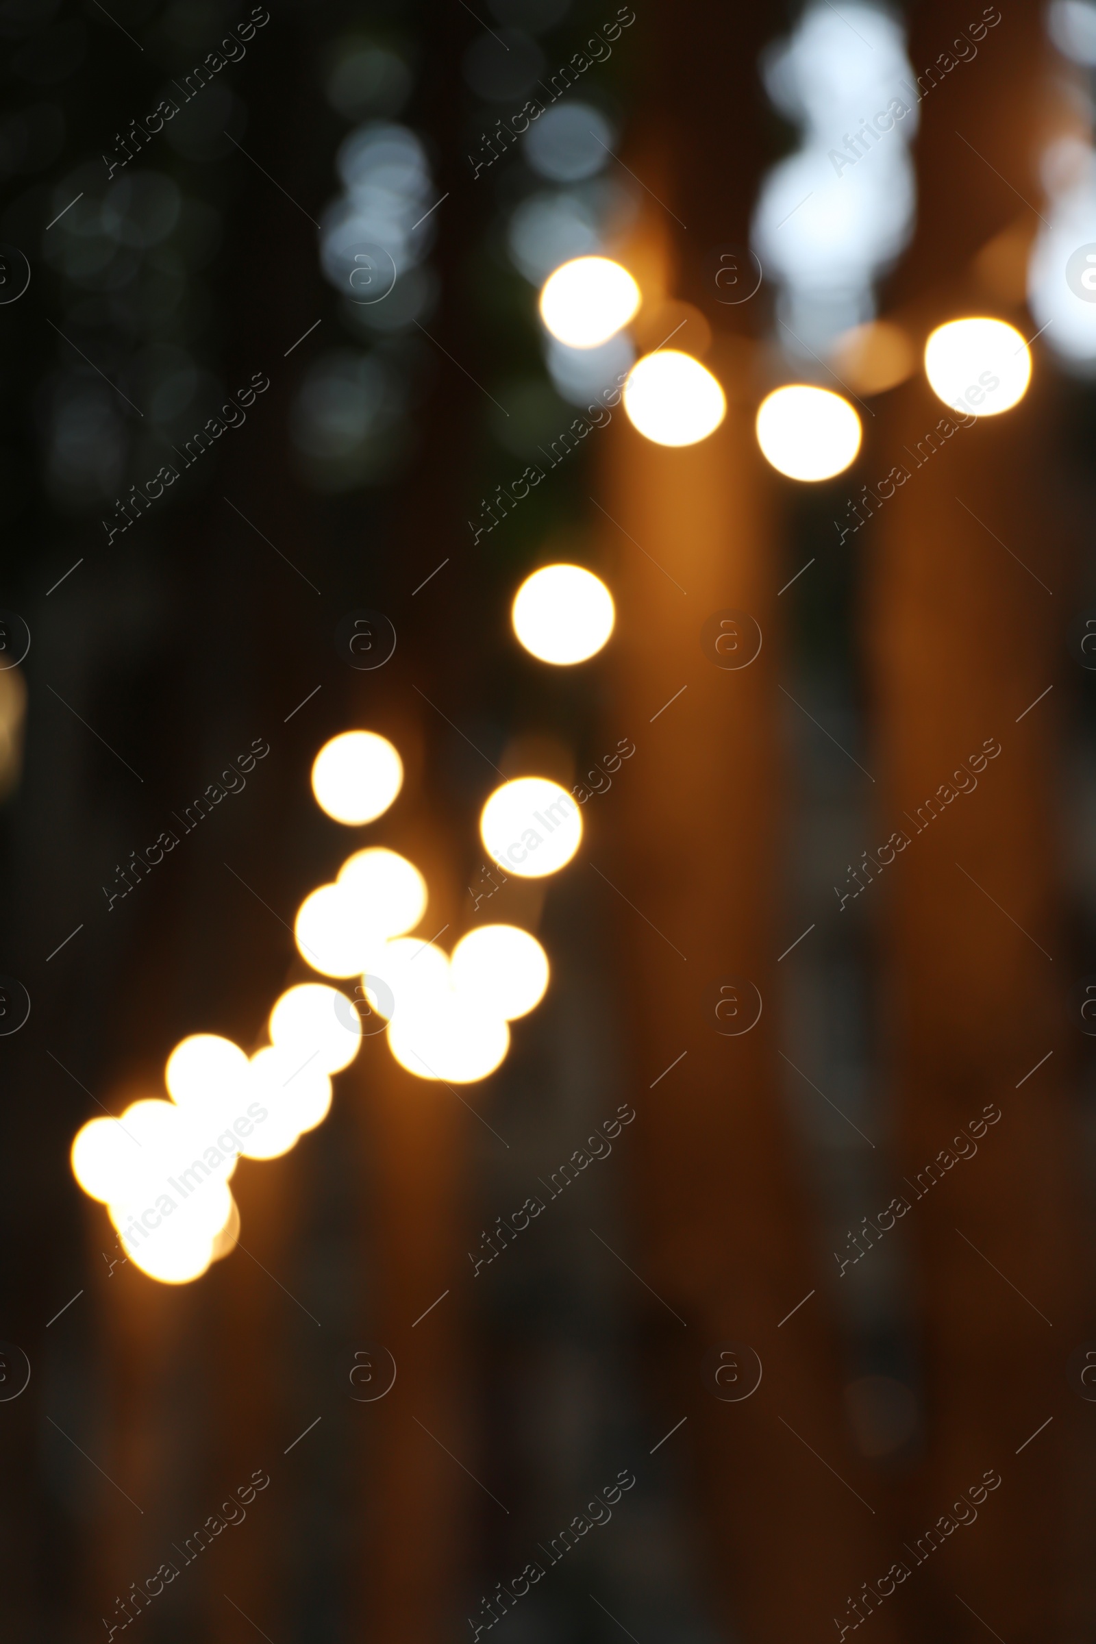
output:
[[[0,3],[5,1636],[1094,1636],[1096,307],[1066,263],[1096,242],[1096,7],[969,13]],[[396,268],[376,304],[358,243]],[[585,353],[537,291],[588,253],[644,306]],[[919,460],[925,337],[968,314],[1042,327],[1030,390]],[[718,431],[656,446],[621,408],[500,506],[670,335]],[[856,404],[853,469],[764,462],[782,381]],[[575,669],[509,625],[552,561],[616,602]],[[764,636],[741,671],[723,610]],[[398,636],[371,671],[360,612]],[[309,784],[348,728],[406,768],[365,829]],[[575,861],[495,888],[500,773],[570,786],[623,738]],[[246,791],[112,903],[253,741]],[[534,931],[549,993],[460,1090],[365,1039],[325,1123],[242,1162],[237,1248],[158,1284],[72,1136],[163,1095],[187,1034],[260,1046],[314,975],[299,903],[366,843],[426,873],[424,935]],[[764,1001],[741,1036],[728,978]],[[394,1386],[357,1402],[378,1345]]]

